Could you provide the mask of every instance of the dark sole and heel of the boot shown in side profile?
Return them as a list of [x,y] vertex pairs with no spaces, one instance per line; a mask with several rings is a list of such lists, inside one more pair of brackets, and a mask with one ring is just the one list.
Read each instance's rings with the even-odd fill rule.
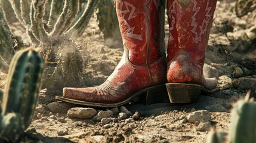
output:
[[58,96],[56,96],[55,99],[64,101],[64,102],[70,102],[72,104],[86,105],[89,107],[103,107],[103,108],[119,107],[129,102],[139,102],[143,104],[169,102],[165,84],[141,89],[140,91],[137,91],[131,96],[129,96],[129,98],[125,99],[124,101],[115,102],[115,103],[88,102],[88,101],[74,100],[71,98],[58,97]]

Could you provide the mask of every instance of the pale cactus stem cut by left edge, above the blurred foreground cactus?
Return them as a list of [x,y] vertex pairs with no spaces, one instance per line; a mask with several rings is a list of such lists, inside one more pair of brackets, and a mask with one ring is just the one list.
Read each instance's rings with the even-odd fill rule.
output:
[[5,20],[4,12],[0,6],[0,68],[8,70],[9,62],[14,55],[14,41],[10,28]]

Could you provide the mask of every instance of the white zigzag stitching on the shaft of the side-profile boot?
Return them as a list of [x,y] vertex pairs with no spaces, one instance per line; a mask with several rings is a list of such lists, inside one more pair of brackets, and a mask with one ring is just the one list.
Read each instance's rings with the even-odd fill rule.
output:
[[[137,35],[137,34],[134,34],[134,28],[135,27],[131,27],[129,24],[128,24],[128,21],[125,20],[125,14],[129,13],[129,17],[128,17],[128,20],[131,20],[132,18],[134,18],[135,16],[133,15],[134,14],[134,11],[136,10],[136,8],[134,7],[134,5],[132,4],[129,4],[128,2],[123,2],[122,0],[118,0],[119,3],[120,3],[120,8],[119,8],[119,12],[122,14],[121,16],[121,20],[124,21],[125,25],[127,25],[128,29],[126,31],[126,36],[129,37],[129,38],[134,38],[134,39],[138,39],[140,41],[143,41],[141,35]],[[123,5],[125,4],[125,7],[127,8],[126,10],[122,11],[122,8],[123,8]],[[130,11],[128,7],[131,7],[132,10]]]

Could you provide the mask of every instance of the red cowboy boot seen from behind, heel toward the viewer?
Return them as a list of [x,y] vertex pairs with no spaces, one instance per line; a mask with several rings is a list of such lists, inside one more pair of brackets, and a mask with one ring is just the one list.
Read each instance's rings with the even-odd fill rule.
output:
[[171,102],[193,102],[214,92],[217,79],[203,76],[205,47],[217,0],[168,0],[167,84]]

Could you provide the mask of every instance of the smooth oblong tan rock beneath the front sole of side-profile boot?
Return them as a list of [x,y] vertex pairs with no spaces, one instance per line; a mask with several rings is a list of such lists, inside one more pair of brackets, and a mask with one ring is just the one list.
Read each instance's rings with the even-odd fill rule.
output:
[[70,108],[67,111],[67,117],[76,117],[80,119],[91,119],[97,114],[97,111],[94,108],[81,108],[75,107]]

